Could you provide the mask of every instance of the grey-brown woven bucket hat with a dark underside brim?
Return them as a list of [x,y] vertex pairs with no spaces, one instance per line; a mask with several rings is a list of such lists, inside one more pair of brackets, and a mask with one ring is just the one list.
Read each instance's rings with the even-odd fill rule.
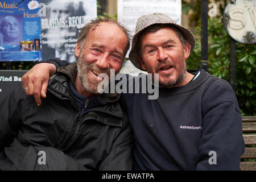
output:
[[151,26],[152,24],[170,24],[172,26],[175,26],[181,34],[184,36],[186,40],[188,40],[189,44],[191,45],[191,52],[193,48],[195,48],[195,37],[193,36],[192,32],[189,31],[187,28],[180,26],[175,22],[175,20],[171,19],[169,16],[164,15],[162,13],[154,13],[149,15],[142,15],[137,20],[136,28],[135,28],[135,34],[131,43],[131,51],[129,53],[129,59],[131,63],[134,64],[134,66],[138,69],[141,69],[141,64],[139,64],[138,61],[138,39],[141,35],[141,32]]

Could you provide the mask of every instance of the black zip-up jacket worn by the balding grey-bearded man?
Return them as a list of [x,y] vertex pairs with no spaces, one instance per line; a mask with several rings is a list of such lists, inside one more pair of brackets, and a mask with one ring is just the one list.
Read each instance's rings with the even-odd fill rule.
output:
[[0,102],[0,169],[131,170],[133,133],[117,94],[80,115],[69,90],[76,63],[60,68],[36,106],[20,84]]

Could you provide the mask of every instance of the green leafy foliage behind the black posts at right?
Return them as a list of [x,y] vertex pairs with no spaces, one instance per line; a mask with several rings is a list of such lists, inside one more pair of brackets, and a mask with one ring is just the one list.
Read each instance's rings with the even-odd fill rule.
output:
[[[222,14],[227,1],[223,1],[218,10]],[[183,6],[197,7],[200,1],[190,1]],[[188,7],[184,11],[188,11]],[[196,17],[197,19],[194,19]],[[196,47],[187,60],[189,69],[200,67],[201,60],[201,22],[200,13],[193,15],[191,22],[196,27]],[[221,16],[208,17],[208,72],[211,75],[230,82],[230,36],[222,24]],[[236,42],[236,96],[242,115],[256,115],[256,44]]]

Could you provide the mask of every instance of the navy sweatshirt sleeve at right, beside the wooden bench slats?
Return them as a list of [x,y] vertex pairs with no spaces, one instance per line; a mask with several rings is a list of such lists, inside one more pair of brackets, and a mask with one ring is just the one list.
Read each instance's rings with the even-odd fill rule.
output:
[[203,128],[196,170],[240,170],[245,149],[242,117],[228,82],[217,80],[205,92]]

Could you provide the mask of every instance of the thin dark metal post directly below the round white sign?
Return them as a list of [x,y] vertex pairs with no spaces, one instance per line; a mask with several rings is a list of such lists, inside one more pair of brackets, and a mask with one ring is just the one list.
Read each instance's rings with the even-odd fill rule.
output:
[[230,37],[230,82],[236,91],[236,40]]

